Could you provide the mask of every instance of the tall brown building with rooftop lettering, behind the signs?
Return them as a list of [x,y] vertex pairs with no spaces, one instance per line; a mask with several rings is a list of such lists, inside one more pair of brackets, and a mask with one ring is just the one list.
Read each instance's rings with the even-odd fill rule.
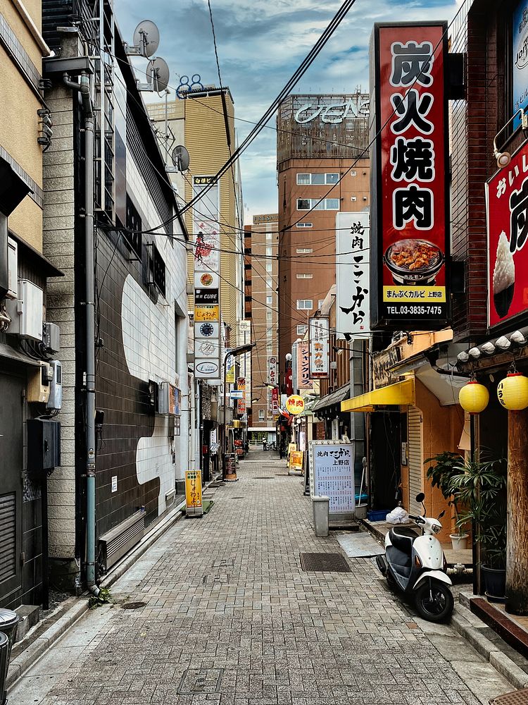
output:
[[279,365],[335,283],[336,214],[370,207],[369,97],[291,95],[277,116]]

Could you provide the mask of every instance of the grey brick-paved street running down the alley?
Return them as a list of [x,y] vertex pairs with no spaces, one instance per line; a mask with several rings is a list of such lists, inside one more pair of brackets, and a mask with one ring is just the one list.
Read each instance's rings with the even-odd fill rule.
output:
[[300,479],[275,458],[242,461],[206,517],[177,523],[113,586],[145,606],[88,613],[11,705],[476,705],[511,690],[449,627],[406,610],[371,559],[303,572],[301,552],[341,549],[315,537]]

